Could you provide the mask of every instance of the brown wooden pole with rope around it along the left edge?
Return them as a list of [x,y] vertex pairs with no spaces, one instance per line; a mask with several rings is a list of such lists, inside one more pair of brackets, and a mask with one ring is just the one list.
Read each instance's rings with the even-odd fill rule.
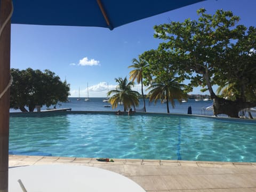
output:
[[[10,15],[11,1],[1,0],[0,25]],[[0,94],[10,81],[11,22],[7,22],[0,37]],[[0,192],[8,191],[10,89],[0,98]]]

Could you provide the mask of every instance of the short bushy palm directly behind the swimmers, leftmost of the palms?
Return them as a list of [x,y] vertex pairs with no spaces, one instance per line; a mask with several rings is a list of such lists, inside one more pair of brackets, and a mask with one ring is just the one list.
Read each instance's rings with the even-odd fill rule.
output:
[[121,77],[115,78],[115,81],[118,83],[116,89],[108,92],[108,96],[114,94],[109,99],[112,108],[116,108],[119,102],[123,102],[124,111],[132,106],[135,111],[135,106],[139,106],[139,93],[137,91],[132,91],[131,87],[134,83],[128,82],[126,77],[124,79]]

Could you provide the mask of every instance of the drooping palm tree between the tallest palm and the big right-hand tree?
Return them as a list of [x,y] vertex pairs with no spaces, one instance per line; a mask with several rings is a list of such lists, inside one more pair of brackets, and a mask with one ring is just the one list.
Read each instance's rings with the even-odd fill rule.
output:
[[182,90],[184,86],[184,84],[179,84],[173,78],[169,78],[166,81],[156,81],[156,79],[154,79],[147,89],[150,90],[148,93],[149,102],[155,99],[156,104],[158,99],[160,99],[161,102],[166,100],[167,113],[170,113],[169,101],[171,101],[172,108],[174,108],[174,99],[178,99],[178,101],[181,103],[182,99],[187,98],[187,94]]

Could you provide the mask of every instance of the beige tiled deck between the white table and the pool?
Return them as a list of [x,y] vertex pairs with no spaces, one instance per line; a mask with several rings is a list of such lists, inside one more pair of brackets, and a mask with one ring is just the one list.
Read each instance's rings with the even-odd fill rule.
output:
[[[256,191],[256,163],[161,161],[9,155],[9,167],[42,164],[95,166],[137,182],[147,192]],[[131,191],[132,192],[132,191]]]

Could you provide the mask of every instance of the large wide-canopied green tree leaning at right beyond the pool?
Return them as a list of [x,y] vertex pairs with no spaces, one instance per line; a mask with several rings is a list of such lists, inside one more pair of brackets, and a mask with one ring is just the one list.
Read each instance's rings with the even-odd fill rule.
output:
[[[237,25],[239,17],[230,11],[206,14],[197,11],[198,20],[170,22],[155,26],[155,37],[164,40],[158,51],[166,51],[175,60],[171,68],[190,79],[190,87],[202,84],[213,99],[214,115],[238,117],[239,110],[256,106],[255,91],[246,98],[245,90],[255,90],[255,28]],[[194,75],[196,74],[196,75]],[[212,85],[235,82],[238,94],[231,101],[218,97]],[[250,89],[248,89],[251,87]]]

